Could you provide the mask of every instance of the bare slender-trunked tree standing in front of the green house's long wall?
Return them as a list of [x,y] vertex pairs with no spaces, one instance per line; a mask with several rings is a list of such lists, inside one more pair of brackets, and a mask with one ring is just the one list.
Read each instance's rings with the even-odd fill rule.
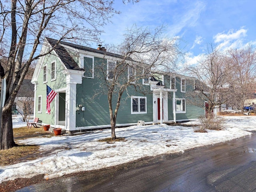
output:
[[114,57],[112,61],[108,58],[108,64],[102,62],[98,66],[98,78],[103,77],[99,92],[108,96],[113,140],[116,139],[116,118],[122,99],[131,96],[127,90],[133,88],[134,91],[146,94],[142,79],[148,81],[148,78],[157,74],[159,70],[166,73],[172,71],[179,56],[182,55],[178,48],[178,39],[163,36],[163,30],[162,26],[154,32],[149,28],[133,26],[127,30],[122,44],[112,46],[108,50],[118,54],[115,55],[118,58]]

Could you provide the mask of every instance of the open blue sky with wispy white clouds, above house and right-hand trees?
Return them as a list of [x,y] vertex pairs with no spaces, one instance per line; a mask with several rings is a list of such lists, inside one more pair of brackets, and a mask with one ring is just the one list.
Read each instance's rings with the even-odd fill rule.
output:
[[205,53],[207,43],[223,49],[256,45],[254,0],[140,0],[126,5],[116,0],[114,7],[122,13],[104,26],[103,45],[120,43],[134,24],[150,29],[165,25],[168,36],[184,41],[180,48],[189,62]]

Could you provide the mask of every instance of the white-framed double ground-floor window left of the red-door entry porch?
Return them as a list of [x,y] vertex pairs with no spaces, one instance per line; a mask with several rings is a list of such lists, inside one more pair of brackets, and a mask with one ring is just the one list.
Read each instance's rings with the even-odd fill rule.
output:
[[147,98],[132,96],[131,98],[131,114],[146,114]]

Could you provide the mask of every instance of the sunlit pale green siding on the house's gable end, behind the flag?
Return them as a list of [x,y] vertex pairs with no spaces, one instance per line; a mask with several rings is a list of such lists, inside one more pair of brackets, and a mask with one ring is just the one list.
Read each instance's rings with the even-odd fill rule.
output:
[[[51,81],[51,63],[56,61],[56,80]],[[43,67],[47,65],[47,82],[43,82]],[[37,82],[36,90],[36,114],[35,116],[41,119],[43,124],[54,124],[54,114],[55,114],[55,99],[51,102],[51,114],[46,113],[46,84],[56,90],[59,88],[66,87],[66,75],[61,71],[65,68],[61,64],[59,58],[54,54],[49,54],[45,56],[44,63],[40,69]],[[42,96],[42,113],[38,113],[38,96]]]

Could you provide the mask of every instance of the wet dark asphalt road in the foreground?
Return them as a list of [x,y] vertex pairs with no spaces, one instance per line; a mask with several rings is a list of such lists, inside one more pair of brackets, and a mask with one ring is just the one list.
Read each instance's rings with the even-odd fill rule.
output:
[[17,192],[46,191],[256,192],[256,134],[183,154],[64,176]]

